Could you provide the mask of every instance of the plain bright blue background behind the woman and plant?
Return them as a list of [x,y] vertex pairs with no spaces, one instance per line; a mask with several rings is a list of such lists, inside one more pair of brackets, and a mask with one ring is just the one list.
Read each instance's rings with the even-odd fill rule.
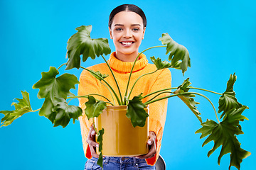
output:
[[[92,25],[92,38],[109,38],[107,21],[110,11],[119,4],[136,4],[146,13],[148,25],[140,51],[154,45],[161,33],[169,33],[176,42],[190,52],[191,68],[182,77],[172,69],[173,86],[190,77],[192,86],[223,93],[230,74],[238,76],[235,92],[238,101],[246,106],[243,115],[250,120],[241,123],[244,135],[238,139],[243,149],[252,155],[244,159],[242,170],[256,166],[256,102],[255,102],[255,1],[0,1],[0,111],[14,110],[14,98],[22,98],[28,91],[34,110],[41,108],[43,99],[37,98],[33,84],[41,79],[41,72],[59,67],[67,61],[66,42],[76,33],[75,28]],[[114,45],[110,41],[112,51]],[[165,59],[165,49],[146,52]],[[101,58],[88,60],[87,67],[103,62]],[[63,73],[64,69],[60,69]],[[81,70],[69,73],[79,77]],[[77,93],[76,90],[73,93]],[[218,108],[218,95],[207,94]],[[216,121],[213,108],[200,96],[198,110],[203,121]],[[75,104],[78,101],[74,100]],[[3,118],[4,115],[0,115]],[[201,128],[196,117],[178,98],[169,100],[161,155],[167,169],[228,169],[229,154],[217,164],[220,148],[207,157],[213,147],[196,134]],[[80,125],[70,123],[65,129],[53,128],[50,121],[38,113],[27,113],[12,125],[0,128],[0,169],[83,169],[86,162],[82,150]],[[232,167],[235,169],[235,167]]]

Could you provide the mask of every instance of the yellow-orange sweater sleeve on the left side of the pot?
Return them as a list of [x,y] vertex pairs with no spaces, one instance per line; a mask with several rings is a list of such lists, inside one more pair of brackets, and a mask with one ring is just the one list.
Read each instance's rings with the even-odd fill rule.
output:
[[[90,72],[86,70],[82,71],[80,75],[80,84],[78,85],[78,96],[85,96],[88,94],[99,94],[99,85],[95,77],[93,77]],[[82,135],[82,147],[85,152],[85,157],[91,158],[90,147],[87,145],[87,135],[92,125],[92,119],[88,120],[85,115],[85,102],[87,98],[79,98],[79,106],[82,108],[82,116],[80,116],[80,128]]]

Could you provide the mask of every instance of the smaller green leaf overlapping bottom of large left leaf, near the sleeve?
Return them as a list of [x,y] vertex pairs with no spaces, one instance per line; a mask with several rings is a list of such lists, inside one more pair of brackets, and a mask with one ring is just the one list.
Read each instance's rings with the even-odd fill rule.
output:
[[65,128],[71,118],[73,118],[73,123],[75,123],[75,120],[78,120],[78,117],[82,115],[80,107],[68,106],[68,103],[63,98],[56,98],[56,106],[53,108],[53,112],[55,113],[53,127],[61,125]]

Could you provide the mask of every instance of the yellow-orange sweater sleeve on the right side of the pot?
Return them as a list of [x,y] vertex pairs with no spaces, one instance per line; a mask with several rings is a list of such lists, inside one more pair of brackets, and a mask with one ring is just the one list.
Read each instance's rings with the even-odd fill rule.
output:
[[[156,78],[149,93],[158,91],[161,89],[171,88],[171,72],[169,69],[162,69],[160,74]],[[169,96],[169,94],[161,94],[157,98]],[[149,99],[149,98],[148,98]],[[149,131],[153,131],[156,134],[156,155],[150,159],[146,159],[147,164],[154,165],[159,157],[161,149],[161,140],[164,132],[164,124],[166,120],[166,112],[168,106],[168,100],[164,99],[149,104]]]

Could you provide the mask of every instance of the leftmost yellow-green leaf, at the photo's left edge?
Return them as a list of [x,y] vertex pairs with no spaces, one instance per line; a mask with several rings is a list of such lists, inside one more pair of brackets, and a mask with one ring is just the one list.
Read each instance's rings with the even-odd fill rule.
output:
[[0,113],[4,114],[4,118],[1,119],[1,124],[4,124],[1,126],[11,125],[11,123],[13,123],[16,118],[19,118],[21,115],[32,111],[28,92],[21,91],[21,94],[23,98],[15,98],[18,103],[11,104],[11,106],[15,106],[14,111],[0,111]]

